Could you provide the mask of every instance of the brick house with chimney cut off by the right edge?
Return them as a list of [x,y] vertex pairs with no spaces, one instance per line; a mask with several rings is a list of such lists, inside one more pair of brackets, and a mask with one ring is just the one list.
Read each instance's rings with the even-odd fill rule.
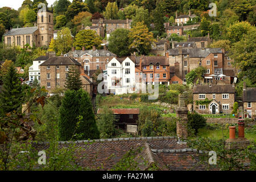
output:
[[245,118],[255,119],[256,117],[256,88],[246,88],[243,82],[243,113]]

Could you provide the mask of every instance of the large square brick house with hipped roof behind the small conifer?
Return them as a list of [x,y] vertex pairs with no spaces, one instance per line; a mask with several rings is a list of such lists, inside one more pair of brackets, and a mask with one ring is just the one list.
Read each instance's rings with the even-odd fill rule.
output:
[[50,57],[39,65],[41,82],[48,93],[56,88],[64,88],[69,67],[74,66],[81,73],[81,64],[72,57]]

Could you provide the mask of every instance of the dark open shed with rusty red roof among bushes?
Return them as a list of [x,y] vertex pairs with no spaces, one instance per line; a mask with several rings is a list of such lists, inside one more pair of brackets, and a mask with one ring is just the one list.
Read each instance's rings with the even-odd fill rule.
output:
[[[118,129],[127,129],[127,125],[137,125],[139,109],[111,109],[117,122],[115,125]],[[102,114],[103,109],[98,109],[97,114]]]

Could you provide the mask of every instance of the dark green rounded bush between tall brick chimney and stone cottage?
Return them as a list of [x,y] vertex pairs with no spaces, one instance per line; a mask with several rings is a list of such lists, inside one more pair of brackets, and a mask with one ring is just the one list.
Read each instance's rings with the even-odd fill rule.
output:
[[198,133],[198,129],[206,125],[206,119],[197,113],[188,113],[188,126],[195,130],[195,134]]

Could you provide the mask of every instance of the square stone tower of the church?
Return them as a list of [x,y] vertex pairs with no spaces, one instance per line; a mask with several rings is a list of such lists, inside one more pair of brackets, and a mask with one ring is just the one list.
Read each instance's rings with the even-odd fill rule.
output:
[[38,47],[48,46],[53,38],[53,14],[45,11],[38,12],[38,30],[36,44]]

